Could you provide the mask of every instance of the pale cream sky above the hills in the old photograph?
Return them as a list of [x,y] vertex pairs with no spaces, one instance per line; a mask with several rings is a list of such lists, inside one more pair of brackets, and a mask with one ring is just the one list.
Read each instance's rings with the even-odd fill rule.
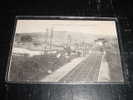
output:
[[70,34],[77,32],[84,35],[117,36],[115,21],[97,20],[17,20],[16,33],[46,32],[47,28]]

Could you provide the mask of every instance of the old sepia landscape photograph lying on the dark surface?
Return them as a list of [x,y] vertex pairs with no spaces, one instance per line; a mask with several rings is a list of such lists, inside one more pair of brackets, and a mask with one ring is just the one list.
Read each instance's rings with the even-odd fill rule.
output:
[[124,82],[114,20],[17,20],[8,81]]

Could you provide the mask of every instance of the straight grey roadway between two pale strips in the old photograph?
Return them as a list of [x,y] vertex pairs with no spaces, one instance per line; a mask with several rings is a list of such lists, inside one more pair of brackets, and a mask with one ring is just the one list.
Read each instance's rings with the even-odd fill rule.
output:
[[97,82],[103,53],[91,53],[59,82]]

